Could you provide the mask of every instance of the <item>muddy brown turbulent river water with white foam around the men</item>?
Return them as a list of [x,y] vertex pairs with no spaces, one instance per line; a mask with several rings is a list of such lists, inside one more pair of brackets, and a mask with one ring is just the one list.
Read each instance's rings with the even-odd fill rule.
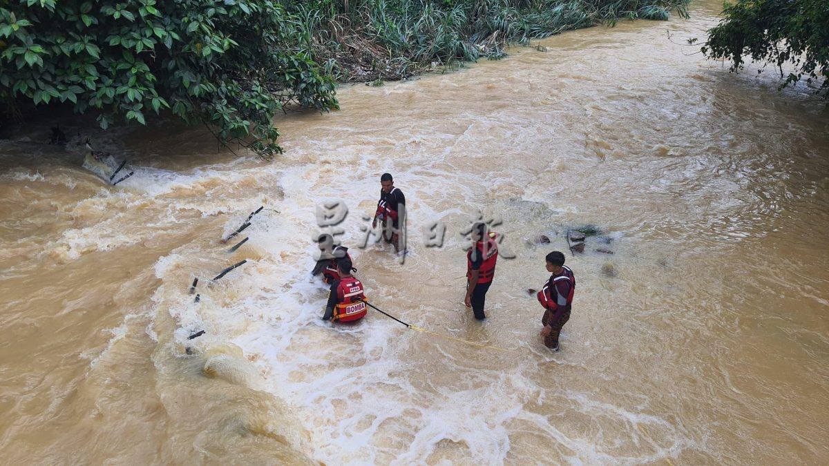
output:
[[[274,163],[158,122],[93,135],[135,172],[109,187],[21,129],[0,143],[0,462],[827,464],[829,114],[679,45],[717,6],[342,88],[342,111],[277,122]],[[356,247],[382,172],[404,264]],[[507,351],[323,323],[310,238],[333,200],[372,303]],[[459,235],[478,209],[516,256],[483,324]],[[613,240],[570,255],[585,224]],[[551,353],[526,289],[554,249],[579,285]]]

